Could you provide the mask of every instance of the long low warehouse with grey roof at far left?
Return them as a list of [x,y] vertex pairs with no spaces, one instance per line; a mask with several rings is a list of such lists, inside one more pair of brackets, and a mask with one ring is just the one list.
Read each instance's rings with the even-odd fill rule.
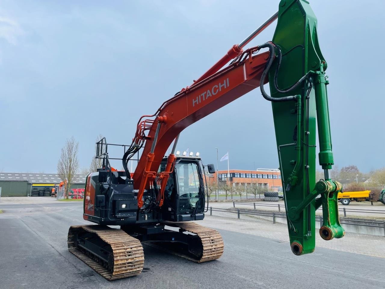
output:
[[[86,175],[75,175],[71,188],[84,188]],[[0,173],[2,197],[27,197],[32,189],[59,186],[56,173]]]

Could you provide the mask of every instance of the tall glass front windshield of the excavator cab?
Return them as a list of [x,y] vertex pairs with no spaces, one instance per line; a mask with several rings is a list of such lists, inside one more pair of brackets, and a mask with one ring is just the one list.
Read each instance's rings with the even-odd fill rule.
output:
[[[179,187],[179,210],[190,212],[199,203],[200,179],[196,163],[180,161],[175,165]],[[200,205],[199,205],[200,207]]]

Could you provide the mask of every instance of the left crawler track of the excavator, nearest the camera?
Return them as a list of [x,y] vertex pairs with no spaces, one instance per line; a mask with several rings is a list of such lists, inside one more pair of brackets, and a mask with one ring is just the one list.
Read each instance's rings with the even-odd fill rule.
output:
[[[95,234],[110,246],[110,262],[78,246],[77,236],[84,233]],[[123,230],[101,225],[71,226],[68,231],[68,249],[107,280],[136,276],[143,270],[142,244]]]

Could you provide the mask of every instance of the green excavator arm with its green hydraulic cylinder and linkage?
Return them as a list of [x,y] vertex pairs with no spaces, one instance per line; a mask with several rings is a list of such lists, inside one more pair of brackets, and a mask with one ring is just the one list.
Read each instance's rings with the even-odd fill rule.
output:
[[[338,218],[337,195],[342,187],[330,179],[334,161],[327,63],[318,44],[317,19],[309,2],[281,0],[272,42],[277,49],[268,73],[271,97],[295,96],[295,101],[273,101],[272,106],[291,250],[301,255],[314,251],[315,211],[320,206],[321,237],[331,240],[345,234]],[[301,85],[293,87],[304,76]],[[323,180],[315,180],[316,123]]]

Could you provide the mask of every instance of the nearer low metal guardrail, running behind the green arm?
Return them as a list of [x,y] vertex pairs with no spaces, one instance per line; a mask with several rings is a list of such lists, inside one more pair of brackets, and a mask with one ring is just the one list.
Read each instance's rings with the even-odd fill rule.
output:
[[[213,208],[210,207],[210,216],[213,215],[213,212],[226,212],[226,213],[236,213],[238,214],[238,219],[241,218],[241,215],[256,215],[256,216],[267,216],[267,217],[273,217],[273,224],[276,223],[276,217],[278,218],[286,218],[286,214],[284,213],[276,213],[276,212],[252,212],[252,211],[246,211],[246,210],[233,210],[233,209],[224,209],[224,208]],[[320,225],[322,226],[323,223],[323,217],[322,216],[316,216],[316,220],[320,222]],[[355,223],[350,223],[355,222]],[[344,219],[340,220],[341,224],[346,225],[355,225],[355,226],[365,226],[365,227],[374,227],[374,228],[383,228],[384,230],[384,237],[385,237],[385,221],[379,222],[379,221],[364,221],[364,220],[350,220],[350,219]],[[360,224],[357,224],[360,223]]]

